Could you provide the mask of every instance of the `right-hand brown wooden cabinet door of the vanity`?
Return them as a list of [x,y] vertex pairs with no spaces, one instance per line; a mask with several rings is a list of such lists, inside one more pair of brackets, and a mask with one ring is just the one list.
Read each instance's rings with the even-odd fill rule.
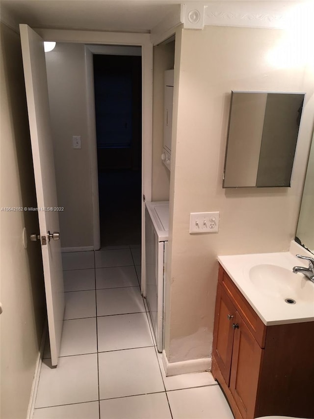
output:
[[254,418],[263,349],[236,312],[230,391],[243,418]]

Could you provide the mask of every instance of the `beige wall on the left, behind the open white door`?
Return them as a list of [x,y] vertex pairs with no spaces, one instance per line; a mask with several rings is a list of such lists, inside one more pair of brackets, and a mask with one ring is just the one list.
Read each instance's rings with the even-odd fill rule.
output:
[[[36,207],[20,36],[1,23],[1,207]],[[25,419],[45,318],[36,212],[0,212],[1,419]]]

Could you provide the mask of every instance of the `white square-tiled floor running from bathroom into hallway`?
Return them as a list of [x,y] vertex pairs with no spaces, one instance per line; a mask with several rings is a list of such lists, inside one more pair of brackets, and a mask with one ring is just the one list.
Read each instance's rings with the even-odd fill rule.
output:
[[57,368],[46,345],[34,419],[232,419],[209,372],[165,377],[140,294],[140,249],[63,253]]

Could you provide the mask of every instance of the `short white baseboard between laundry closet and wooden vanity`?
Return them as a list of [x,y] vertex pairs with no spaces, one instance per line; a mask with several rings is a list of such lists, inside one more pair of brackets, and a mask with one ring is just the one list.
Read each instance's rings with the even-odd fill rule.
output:
[[162,351],[162,363],[167,377],[190,372],[209,371],[211,368],[211,358],[169,363],[164,350]]

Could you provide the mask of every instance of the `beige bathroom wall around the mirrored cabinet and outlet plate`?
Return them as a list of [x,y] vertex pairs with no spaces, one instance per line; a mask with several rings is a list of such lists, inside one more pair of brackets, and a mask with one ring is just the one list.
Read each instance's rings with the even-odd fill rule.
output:
[[[176,33],[169,362],[211,355],[217,255],[287,251],[294,237],[312,137],[314,79],[310,68],[279,69],[267,61],[282,36],[276,29],[209,26]],[[291,188],[222,189],[231,90],[307,92]],[[189,214],[202,211],[220,211],[217,234],[189,234]]]

